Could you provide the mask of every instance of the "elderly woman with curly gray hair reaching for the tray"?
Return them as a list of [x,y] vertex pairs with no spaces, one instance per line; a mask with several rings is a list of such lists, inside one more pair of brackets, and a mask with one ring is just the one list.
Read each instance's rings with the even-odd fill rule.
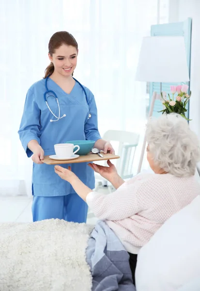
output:
[[55,172],[71,183],[95,216],[105,220],[121,240],[130,255],[134,282],[139,249],[170,216],[200,194],[194,177],[200,160],[199,141],[181,115],[151,119],[147,143],[147,160],[154,173],[140,173],[125,182],[110,161],[108,167],[89,164],[117,189],[112,194],[95,193],[70,170],[55,166]]

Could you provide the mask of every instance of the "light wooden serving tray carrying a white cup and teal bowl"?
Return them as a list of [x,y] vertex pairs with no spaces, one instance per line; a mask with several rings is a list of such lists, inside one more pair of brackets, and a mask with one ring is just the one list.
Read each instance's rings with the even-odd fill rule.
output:
[[63,160],[63,161],[58,161],[58,160],[52,160],[49,158],[49,156],[45,156],[44,160],[41,162],[44,162],[48,165],[57,165],[57,164],[66,164],[66,163],[77,163],[77,162],[94,162],[94,161],[105,161],[105,160],[113,160],[113,159],[119,159],[120,156],[116,156],[113,154],[103,154],[101,152],[103,158],[99,157],[97,154],[92,154],[89,153],[85,156],[79,156],[77,159],[74,160]]

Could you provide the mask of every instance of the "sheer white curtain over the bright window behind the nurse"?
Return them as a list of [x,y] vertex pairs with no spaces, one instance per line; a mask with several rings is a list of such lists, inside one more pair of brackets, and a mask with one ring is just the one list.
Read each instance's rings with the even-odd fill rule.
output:
[[143,133],[148,94],[134,81],[141,39],[168,21],[168,0],[0,0],[0,195],[31,195],[32,162],[17,130],[57,31],[79,46],[75,78],[95,95],[99,130]]

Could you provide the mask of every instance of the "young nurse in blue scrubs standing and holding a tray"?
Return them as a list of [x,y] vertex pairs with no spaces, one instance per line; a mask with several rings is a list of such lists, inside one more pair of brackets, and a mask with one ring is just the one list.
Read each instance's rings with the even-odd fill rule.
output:
[[[55,154],[55,144],[68,140],[93,140],[94,147],[105,153],[114,153],[110,143],[101,139],[99,134],[92,92],[72,77],[77,55],[77,41],[69,32],[54,33],[48,44],[51,63],[46,68],[45,78],[34,83],[26,96],[18,133],[27,156],[32,156],[33,161],[33,221],[59,218],[86,222],[87,204],[70,183],[54,172],[53,165],[41,162],[44,155]],[[84,184],[94,188],[94,173],[88,163],[62,166],[67,168],[69,165]]]

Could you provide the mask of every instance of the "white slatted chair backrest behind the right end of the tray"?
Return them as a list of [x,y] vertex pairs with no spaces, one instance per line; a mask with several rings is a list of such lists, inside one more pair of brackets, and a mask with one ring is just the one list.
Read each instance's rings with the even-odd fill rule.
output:
[[103,139],[119,143],[118,151],[116,152],[120,156],[120,159],[116,162],[117,171],[123,179],[132,178],[133,161],[136,147],[138,146],[139,135],[123,130],[108,130],[104,134]]

